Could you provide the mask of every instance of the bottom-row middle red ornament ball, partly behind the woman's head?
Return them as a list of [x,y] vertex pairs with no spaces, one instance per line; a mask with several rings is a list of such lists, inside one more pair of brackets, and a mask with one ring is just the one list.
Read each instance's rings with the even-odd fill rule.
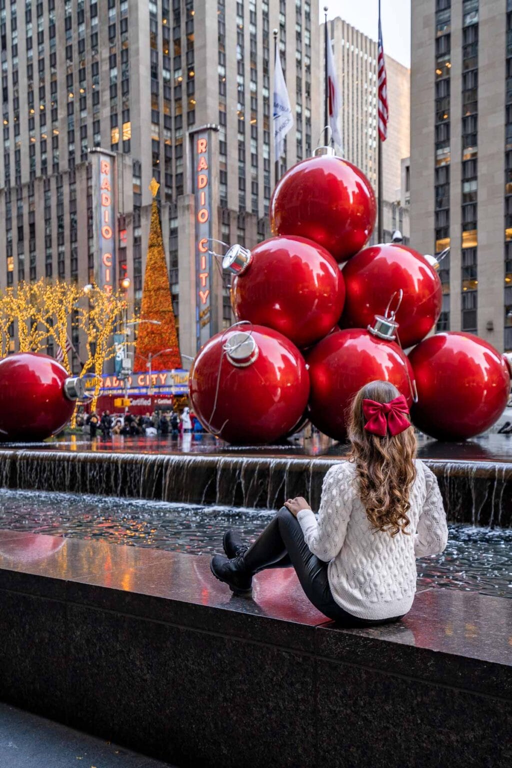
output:
[[414,379],[407,356],[394,341],[361,328],[340,330],[322,339],[307,357],[312,424],[337,440],[347,436],[348,409],[355,393],[369,382],[388,381],[412,402]]

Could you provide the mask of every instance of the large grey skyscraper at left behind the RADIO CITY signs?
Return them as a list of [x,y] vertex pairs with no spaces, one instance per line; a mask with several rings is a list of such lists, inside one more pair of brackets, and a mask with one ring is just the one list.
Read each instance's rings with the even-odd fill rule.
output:
[[97,280],[111,215],[109,275],[137,306],[155,178],[182,352],[229,323],[210,238],[269,231],[273,28],[295,118],[284,170],[319,134],[315,2],[0,0],[0,288]]

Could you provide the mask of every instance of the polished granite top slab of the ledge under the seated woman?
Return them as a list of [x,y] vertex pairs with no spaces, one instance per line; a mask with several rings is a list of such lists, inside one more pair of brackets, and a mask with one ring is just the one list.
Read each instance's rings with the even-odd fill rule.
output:
[[398,624],[346,630],[309,604],[291,568],[259,574],[246,600],[209,558],[11,531],[0,531],[0,589],[512,697],[504,598],[431,588]]

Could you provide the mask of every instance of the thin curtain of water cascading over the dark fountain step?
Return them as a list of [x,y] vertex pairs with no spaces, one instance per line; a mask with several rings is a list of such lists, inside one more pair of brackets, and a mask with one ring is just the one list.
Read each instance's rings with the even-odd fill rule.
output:
[[[325,472],[338,459],[244,455],[4,450],[0,485],[167,502],[276,509],[305,496],[318,508]],[[512,463],[427,460],[448,519],[512,525]]]

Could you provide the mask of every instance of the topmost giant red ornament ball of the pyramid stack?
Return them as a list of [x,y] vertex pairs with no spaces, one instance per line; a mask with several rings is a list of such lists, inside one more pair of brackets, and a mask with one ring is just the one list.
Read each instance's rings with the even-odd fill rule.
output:
[[362,170],[342,157],[319,154],[279,180],[270,201],[270,225],[276,235],[319,243],[342,262],[368,242],[376,211],[372,185]]

